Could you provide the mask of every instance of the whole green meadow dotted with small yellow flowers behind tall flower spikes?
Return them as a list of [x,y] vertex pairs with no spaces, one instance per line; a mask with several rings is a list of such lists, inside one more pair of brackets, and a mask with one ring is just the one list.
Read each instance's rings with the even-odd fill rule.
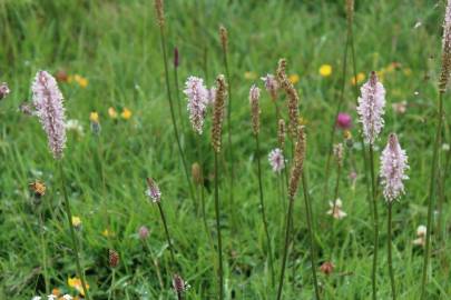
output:
[[[346,42],[346,2],[165,1],[171,114],[153,0],[0,1],[0,82],[10,90],[0,100],[0,300],[50,293],[87,299],[76,252],[89,299],[276,299],[291,201],[287,181],[296,167],[302,179],[288,218],[283,299],[451,299],[451,104],[439,89],[447,1],[356,0],[353,49]],[[220,27],[227,31],[227,69]],[[280,82],[282,58],[290,84]],[[49,151],[32,112],[31,84],[40,70],[57,79],[65,98],[62,159]],[[405,194],[393,202],[385,200],[381,178],[369,192],[370,166],[362,159],[369,146],[361,142],[356,102],[372,71],[386,91],[384,127],[372,147],[375,177],[391,132],[409,157]],[[275,101],[261,79],[267,73],[286,87]],[[219,82],[220,89],[219,74],[229,90],[222,149],[215,153],[217,137],[210,132],[218,96],[198,134],[184,90],[192,76],[207,88]],[[253,84],[261,89],[256,109],[249,106]],[[286,166],[277,173],[268,154],[281,147],[278,119],[290,124],[290,87],[298,94],[301,127],[287,134]],[[437,139],[439,94],[444,117]],[[336,112],[344,119],[336,122]],[[295,147],[304,137],[300,132],[306,149],[302,141]],[[329,154],[331,132],[333,143],[342,144],[339,159]],[[431,176],[435,149],[438,168]],[[293,159],[297,152],[301,163]],[[153,193],[153,183],[160,196]],[[379,210],[376,248],[372,203]],[[420,226],[429,217],[423,284],[427,236]],[[175,273],[184,280],[180,291],[173,288]]]

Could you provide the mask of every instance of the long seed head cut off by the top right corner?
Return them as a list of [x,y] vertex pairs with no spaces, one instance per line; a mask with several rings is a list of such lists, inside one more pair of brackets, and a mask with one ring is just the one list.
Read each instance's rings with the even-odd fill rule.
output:
[[439,90],[444,93],[451,71],[451,0],[448,0],[443,21],[442,38],[442,67],[439,80]]

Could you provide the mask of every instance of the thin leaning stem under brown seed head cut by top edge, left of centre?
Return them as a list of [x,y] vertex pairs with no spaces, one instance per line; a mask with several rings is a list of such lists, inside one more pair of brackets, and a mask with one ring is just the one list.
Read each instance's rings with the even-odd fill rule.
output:
[[165,81],[166,81],[166,90],[167,90],[167,99],[169,102],[169,110],[170,110],[170,119],[173,121],[173,129],[174,129],[174,134],[177,141],[177,147],[178,147],[178,152],[180,154],[182,158],[182,163],[184,166],[184,170],[185,170],[185,177],[186,177],[186,182],[188,183],[188,188],[189,188],[189,196],[193,199],[193,201],[195,201],[194,199],[194,189],[193,189],[193,184],[189,178],[189,172],[188,172],[188,167],[186,164],[186,159],[185,159],[185,154],[184,154],[184,150],[182,148],[182,143],[180,143],[180,138],[178,136],[178,129],[177,129],[177,122],[175,119],[175,112],[174,112],[174,103],[173,103],[173,98],[171,98],[171,93],[170,93],[170,84],[169,84],[169,71],[168,71],[168,67],[167,67],[167,53],[166,53],[166,38],[165,38],[165,29],[163,26],[159,27],[159,32],[160,32],[160,41],[161,41],[161,51],[163,51],[163,61],[165,64]]

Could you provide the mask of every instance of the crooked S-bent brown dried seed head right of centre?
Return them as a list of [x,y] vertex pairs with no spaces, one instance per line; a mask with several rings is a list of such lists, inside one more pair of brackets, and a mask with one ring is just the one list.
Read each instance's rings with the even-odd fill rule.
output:
[[296,89],[294,88],[293,83],[286,76],[286,60],[281,59],[278,61],[277,68],[277,80],[278,84],[285,90],[288,97],[288,133],[292,139],[296,139],[296,131],[297,131],[297,120],[298,120],[298,102],[300,97],[297,94]]

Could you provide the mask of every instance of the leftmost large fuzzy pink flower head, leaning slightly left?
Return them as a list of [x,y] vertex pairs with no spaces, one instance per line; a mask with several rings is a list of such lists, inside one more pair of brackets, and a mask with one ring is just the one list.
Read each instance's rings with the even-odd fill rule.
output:
[[55,78],[46,71],[39,71],[36,74],[31,90],[36,116],[38,116],[47,133],[50,151],[55,159],[60,159],[66,146],[66,116],[62,93]]

